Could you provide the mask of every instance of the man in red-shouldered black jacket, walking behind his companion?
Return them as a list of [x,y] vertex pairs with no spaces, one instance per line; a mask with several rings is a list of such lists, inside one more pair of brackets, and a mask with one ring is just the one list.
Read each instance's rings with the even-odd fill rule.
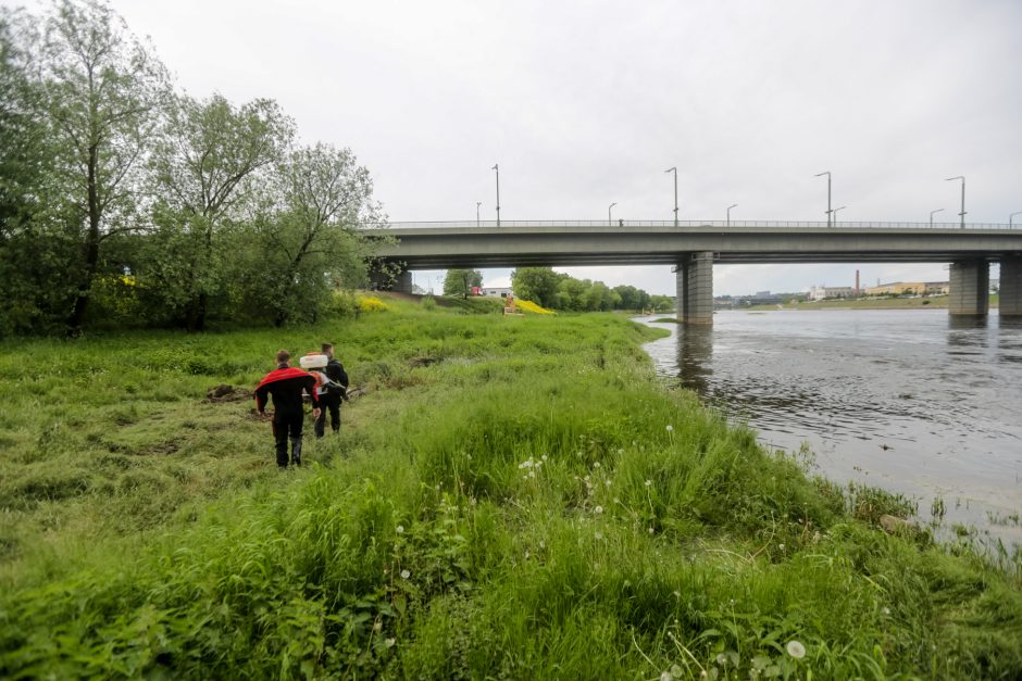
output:
[[277,368],[266,374],[256,388],[256,407],[266,417],[266,399],[273,396],[273,439],[277,451],[277,466],[287,468],[287,439],[291,439],[291,464],[301,466],[301,426],[306,418],[301,404],[302,391],[312,395],[312,415],[320,417],[320,403],[315,394],[312,374],[288,365],[291,353],[277,353]]

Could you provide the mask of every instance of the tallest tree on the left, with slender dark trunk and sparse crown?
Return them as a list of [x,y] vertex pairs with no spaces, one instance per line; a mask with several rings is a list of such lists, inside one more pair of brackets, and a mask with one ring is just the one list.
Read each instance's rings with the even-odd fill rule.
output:
[[46,22],[41,83],[53,147],[60,150],[50,194],[76,256],[67,326],[78,332],[109,238],[137,229],[138,186],[158,115],[169,96],[166,71],[120,16],[95,0],[59,0]]

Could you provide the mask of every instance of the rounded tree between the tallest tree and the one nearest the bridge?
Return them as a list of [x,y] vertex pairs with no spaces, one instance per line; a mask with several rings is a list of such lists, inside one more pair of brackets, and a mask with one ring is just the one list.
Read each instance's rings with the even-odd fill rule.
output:
[[259,193],[269,203],[288,200],[265,191],[272,179],[260,172],[282,164],[292,136],[272,100],[235,108],[220,94],[175,99],[151,160],[161,197],[152,244],[161,254],[149,258],[144,280],[157,306],[189,330],[205,327],[211,300],[226,299],[230,229],[274,207],[258,205]]

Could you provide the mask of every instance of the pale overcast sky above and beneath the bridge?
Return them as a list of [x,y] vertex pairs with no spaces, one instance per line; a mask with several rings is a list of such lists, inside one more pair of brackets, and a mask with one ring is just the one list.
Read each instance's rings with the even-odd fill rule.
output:
[[[493,219],[498,162],[508,220],[606,219],[612,202],[614,219],[671,219],[670,166],[681,219],[737,203],[733,219],[825,220],[822,171],[842,220],[956,222],[956,175],[968,220],[1022,211],[1019,0],[112,5],[190,94],[273,98],[303,141],[350,147],[391,222],[475,219],[476,201]],[[855,269],[718,266],[714,291],[850,286]],[[566,272],[674,293],[668,267]]]

